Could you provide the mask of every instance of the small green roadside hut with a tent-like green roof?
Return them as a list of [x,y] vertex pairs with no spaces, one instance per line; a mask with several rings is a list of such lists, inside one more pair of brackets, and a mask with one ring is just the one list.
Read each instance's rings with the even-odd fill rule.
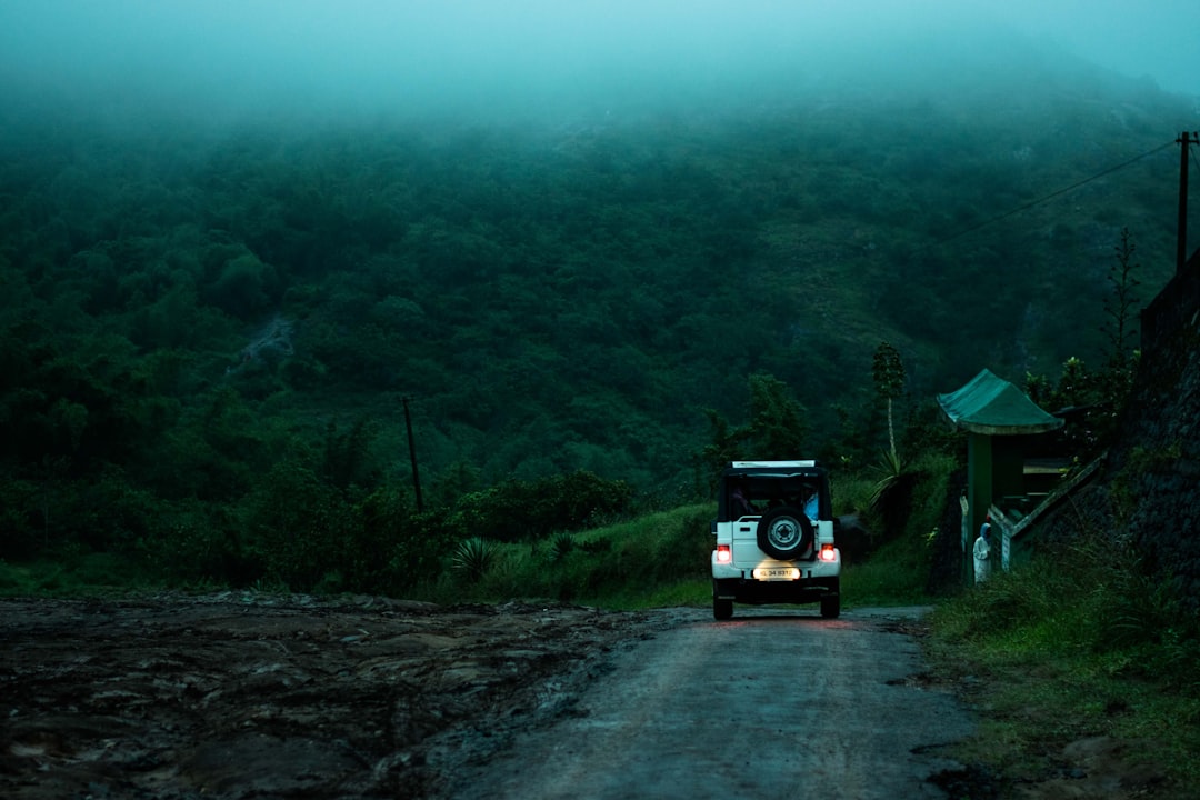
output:
[[[958,391],[937,396],[955,427],[967,433],[967,513],[962,527],[962,563],[971,564],[976,531],[994,500],[1025,494],[1026,438],[1049,433],[1063,421],[1040,409],[1020,389],[983,369]],[[968,579],[970,583],[970,579]]]

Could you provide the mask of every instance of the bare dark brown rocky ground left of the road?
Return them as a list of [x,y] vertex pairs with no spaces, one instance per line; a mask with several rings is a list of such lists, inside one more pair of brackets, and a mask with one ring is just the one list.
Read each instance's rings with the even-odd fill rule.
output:
[[425,798],[671,613],[0,600],[0,796]]

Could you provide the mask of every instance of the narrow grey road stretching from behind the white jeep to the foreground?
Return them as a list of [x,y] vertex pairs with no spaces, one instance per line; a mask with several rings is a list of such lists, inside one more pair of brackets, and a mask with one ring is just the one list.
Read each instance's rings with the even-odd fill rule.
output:
[[618,654],[568,718],[460,772],[445,796],[944,798],[929,778],[961,765],[938,751],[973,722],[922,686],[896,614],[697,612]]

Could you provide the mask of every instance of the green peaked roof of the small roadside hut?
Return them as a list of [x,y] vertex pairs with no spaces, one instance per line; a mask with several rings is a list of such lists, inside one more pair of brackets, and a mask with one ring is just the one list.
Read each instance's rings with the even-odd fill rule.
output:
[[1056,431],[1063,425],[989,369],[980,371],[962,389],[938,395],[937,403],[950,422],[971,433],[1010,437]]

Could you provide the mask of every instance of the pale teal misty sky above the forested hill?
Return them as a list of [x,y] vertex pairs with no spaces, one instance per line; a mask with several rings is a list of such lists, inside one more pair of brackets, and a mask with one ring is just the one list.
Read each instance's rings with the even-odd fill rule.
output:
[[936,91],[1061,58],[1200,95],[1198,23],[1186,0],[8,0],[0,88],[143,121],[486,121]]

